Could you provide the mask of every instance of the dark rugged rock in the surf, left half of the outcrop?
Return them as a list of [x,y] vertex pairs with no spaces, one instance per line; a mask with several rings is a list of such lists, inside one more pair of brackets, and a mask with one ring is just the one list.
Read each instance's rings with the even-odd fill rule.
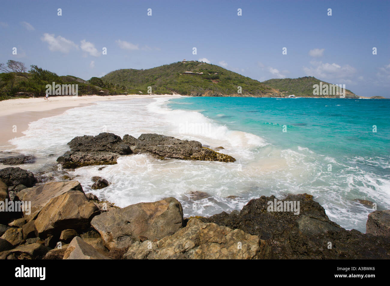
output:
[[113,165],[120,155],[131,154],[131,149],[121,137],[113,133],[96,136],[78,136],[68,142],[71,151],[58,157],[64,168],[78,168],[92,165]]

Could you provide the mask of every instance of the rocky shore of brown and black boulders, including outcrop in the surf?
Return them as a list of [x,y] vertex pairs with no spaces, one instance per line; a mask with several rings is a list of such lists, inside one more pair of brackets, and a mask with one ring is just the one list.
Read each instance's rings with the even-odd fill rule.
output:
[[[200,142],[158,134],[136,139],[100,133],[68,145],[70,151],[57,159],[65,169],[115,164],[119,156],[141,153],[161,160],[235,161]],[[18,167],[0,170],[0,259],[390,258],[390,211],[369,214],[367,233],[340,227],[308,194],[262,196],[241,211],[184,218],[176,198],[119,208],[65,177],[41,182]],[[101,177],[92,181],[94,189],[110,184]],[[298,211],[276,208],[290,203]]]

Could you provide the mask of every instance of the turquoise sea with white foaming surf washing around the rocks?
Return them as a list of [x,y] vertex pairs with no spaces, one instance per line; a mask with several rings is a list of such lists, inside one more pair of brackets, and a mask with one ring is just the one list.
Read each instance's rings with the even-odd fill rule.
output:
[[[61,180],[53,171],[55,160],[75,136],[158,133],[198,140],[213,149],[224,147],[219,152],[237,161],[158,160],[136,154],[121,156],[102,170],[89,166],[69,173],[86,193],[119,207],[175,197],[186,217],[241,210],[262,195],[308,193],[340,226],[365,232],[373,206],[356,200],[390,209],[389,115],[390,100],[133,98],[96,102],[34,121],[24,136],[10,140],[14,149],[8,151],[34,154],[35,163],[20,167]],[[93,176],[110,186],[91,189]]]

